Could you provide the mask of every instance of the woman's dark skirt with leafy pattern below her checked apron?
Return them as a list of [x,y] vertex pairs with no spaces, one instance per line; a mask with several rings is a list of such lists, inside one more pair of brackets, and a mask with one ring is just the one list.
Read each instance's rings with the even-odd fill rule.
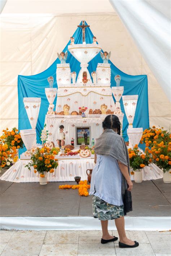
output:
[[123,205],[106,203],[97,196],[93,196],[93,217],[99,220],[114,220],[124,216]]

